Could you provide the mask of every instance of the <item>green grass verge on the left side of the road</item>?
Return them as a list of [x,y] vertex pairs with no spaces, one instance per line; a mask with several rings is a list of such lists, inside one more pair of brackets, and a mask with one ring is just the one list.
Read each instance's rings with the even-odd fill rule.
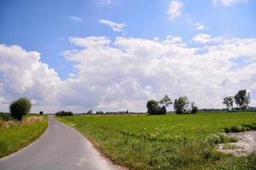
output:
[[26,116],[22,122],[0,120],[0,157],[20,150],[44,133],[47,116]]

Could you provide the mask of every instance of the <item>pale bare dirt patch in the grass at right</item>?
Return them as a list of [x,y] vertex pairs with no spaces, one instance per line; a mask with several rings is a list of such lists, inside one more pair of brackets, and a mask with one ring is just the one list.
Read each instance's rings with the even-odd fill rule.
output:
[[219,144],[218,150],[236,156],[247,156],[256,150],[256,131],[229,133],[228,135],[235,136],[239,140],[236,143]]

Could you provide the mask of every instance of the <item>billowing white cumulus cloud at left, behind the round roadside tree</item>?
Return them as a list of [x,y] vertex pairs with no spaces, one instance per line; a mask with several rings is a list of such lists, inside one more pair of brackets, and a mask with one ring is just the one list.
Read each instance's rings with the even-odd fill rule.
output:
[[34,105],[48,106],[55,103],[61,86],[58,74],[40,61],[38,52],[27,52],[16,45],[0,45],[0,82],[0,96],[6,104],[26,96]]

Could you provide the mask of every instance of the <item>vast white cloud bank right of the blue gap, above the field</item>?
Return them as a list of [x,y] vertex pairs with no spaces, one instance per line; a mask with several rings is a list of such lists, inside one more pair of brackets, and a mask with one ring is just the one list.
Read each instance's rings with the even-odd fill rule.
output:
[[[66,54],[67,59],[78,63],[78,77],[73,81],[80,82],[75,87],[88,86],[86,93],[95,96],[90,97],[95,99],[90,101],[94,108],[144,111],[148,99],[160,99],[164,94],[172,99],[188,95],[200,107],[222,107],[225,95],[242,88],[254,89],[256,41],[207,38],[206,42],[215,43],[189,48],[180,37],[166,37],[163,41],[73,37],[71,41],[84,49]],[[239,56],[247,56],[252,62],[234,70],[236,63],[232,59]],[[85,101],[81,99],[80,103],[84,105]]]

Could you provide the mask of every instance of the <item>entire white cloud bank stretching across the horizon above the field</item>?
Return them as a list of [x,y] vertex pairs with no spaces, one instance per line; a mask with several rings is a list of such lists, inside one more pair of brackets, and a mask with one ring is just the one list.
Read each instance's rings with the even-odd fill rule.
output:
[[[27,96],[37,108],[47,106],[51,111],[146,111],[148,99],[165,94],[172,99],[187,95],[200,108],[215,108],[224,107],[223,97],[240,89],[255,93],[256,39],[205,39],[195,41],[202,47],[192,48],[172,36],[71,37],[69,41],[79,47],[63,54],[76,63],[77,73],[64,81],[37,52],[1,45],[0,108]],[[243,58],[246,65],[239,62]]]

